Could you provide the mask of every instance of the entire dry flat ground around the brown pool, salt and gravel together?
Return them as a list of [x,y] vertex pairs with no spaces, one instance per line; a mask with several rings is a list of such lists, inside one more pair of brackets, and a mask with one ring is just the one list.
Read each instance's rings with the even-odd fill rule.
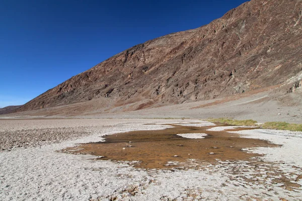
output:
[[302,200],[301,132],[234,131],[279,146],[242,149],[259,154],[246,160],[189,159],[163,169],[136,168],[137,161],[59,152],[79,143],[103,141],[105,135],[191,123],[211,125],[182,119],[2,119],[0,199]]

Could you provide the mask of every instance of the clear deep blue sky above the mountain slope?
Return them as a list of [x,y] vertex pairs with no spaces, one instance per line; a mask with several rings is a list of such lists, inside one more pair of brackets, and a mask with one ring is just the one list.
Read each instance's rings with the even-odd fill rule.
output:
[[0,107],[22,105],[136,44],[194,29],[244,0],[3,0]]

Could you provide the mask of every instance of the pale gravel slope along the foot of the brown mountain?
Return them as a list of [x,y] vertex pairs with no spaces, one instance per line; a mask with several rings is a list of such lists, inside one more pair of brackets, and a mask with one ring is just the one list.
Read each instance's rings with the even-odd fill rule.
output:
[[[289,99],[278,98],[267,99],[268,91],[260,92],[250,96],[239,98],[237,95],[229,98],[218,98],[212,100],[202,100],[192,103],[183,103],[172,106],[163,106],[136,111],[121,112],[121,108],[116,110],[103,111],[103,109],[89,111],[85,113],[75,112],[74,106],[58,106],[41,110],[28,111],[24,113],[9,114],[0,116],[1,118],[65,118],[77,117],[86,118],[191,118],[208,119],[230,117],[238,120],[252,119],[259,123],[265,122],[288,122],[302,124],[302,106],[299,104],[302,91],[292,93]],[[290,95],[290,96],[291,96]],[[239,95],[240,96],[240,95]],[[231,99],[230,99],[231,98]],[[235,98],[235,99],[234,99]],[[264,99],[262,99],[264,98]],[[279,101],[280,100],[280,101]],[[281,101],[282,100],[282,101]],[[81,108],[91,108],[92,103],[85,102]],[[108,113],[109,112],[109,113]],[[0,122],[1,124],[1,122]],[[0,126],[1,129],[1,126]]]

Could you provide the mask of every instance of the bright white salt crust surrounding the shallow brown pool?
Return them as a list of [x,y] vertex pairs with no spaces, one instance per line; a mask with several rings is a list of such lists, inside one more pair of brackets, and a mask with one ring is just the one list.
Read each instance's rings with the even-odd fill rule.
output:
[[[102,121],[106,121],[106,125]],[[215,165],[204,163],[196,169],[144,170],[122,162],[90,160],[95,156],[56,152],[75,143],[101,141],[104,135],[169,127],[143,125],[145,123],[171,122],[190,121],[99,120],[99,130],[93,127],[93,133],[88,137],[0,152],[0,200],[301,200],[301,188],[289,191],[282,184],[274,183],[274,178],[280,175],[295,182],[297,175],[302,174],[302,159],[299,157],[302,138],[296,133],[240,131],[243,137],[283,145],[252,150],[265,154],[259,157],[263,162],[257,165],[249,161],[217,160]],[[47,126],[44,124],[43,127]],[[194,159],[189,162],[196,165]],[[280,175],[270,175],[272,167]],[[300,180],[296,182],[301,184]]]

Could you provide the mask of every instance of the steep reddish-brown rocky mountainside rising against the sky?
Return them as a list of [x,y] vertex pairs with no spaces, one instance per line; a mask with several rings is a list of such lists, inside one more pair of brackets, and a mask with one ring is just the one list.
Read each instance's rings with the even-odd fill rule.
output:
[[206,26],[125,50],[18,111],[100,97],[138,110],[284,84],[302,74],[301,10],[300,0],[251,0]]

